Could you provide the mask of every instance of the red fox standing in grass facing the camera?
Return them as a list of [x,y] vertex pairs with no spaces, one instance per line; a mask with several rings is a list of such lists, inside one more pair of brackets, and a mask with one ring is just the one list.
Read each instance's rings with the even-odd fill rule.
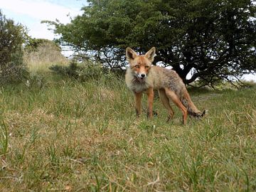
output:
[[142,94],[146,93],[149,119],[153,117],[154,90],[158,90],[159,97],[168,111],[166,122],[174,117],[174,110],[170,102],[182,112],[182,122],[186,124],[188,115],[192,117],[203,117],[206,110],[199,111],[193,104],[183,80],[175,70],[153,65],[156,48],[152,47],[145,55],[137,55],[132,48],[126,48],[126,58],[129,63],[125,74],[125,82],[135,97],[135,110],[137,117],[142,114]]

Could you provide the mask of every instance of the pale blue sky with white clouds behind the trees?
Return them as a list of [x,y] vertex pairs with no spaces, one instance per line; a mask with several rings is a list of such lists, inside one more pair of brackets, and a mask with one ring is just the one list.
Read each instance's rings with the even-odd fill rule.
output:
[[[28,28],[28,35],[33,38],[46,38],[53,40],[57,37],[53,31],[48,30],[43,20],[69,23],[70,17],[82,14],[80,9],[86,6],[86,0],[0,0],[0,9],[6,18],[13,19]],[[70,53],[65,52],[68,56]],[[245,80],[254,80],[256,75],[244,75]]]

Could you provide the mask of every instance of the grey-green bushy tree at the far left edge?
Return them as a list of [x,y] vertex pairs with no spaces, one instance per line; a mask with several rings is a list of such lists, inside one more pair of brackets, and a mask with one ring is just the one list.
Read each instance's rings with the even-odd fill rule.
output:
[[6,19],[0,10],[0,84],[21,79],[24,34],[23,26]]

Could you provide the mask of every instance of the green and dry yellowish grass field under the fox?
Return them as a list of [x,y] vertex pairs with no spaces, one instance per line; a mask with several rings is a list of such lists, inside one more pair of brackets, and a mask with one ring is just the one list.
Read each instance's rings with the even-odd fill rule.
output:
[[[124,80],[0,90],[0,191],[255,191],[256,88],[190,90],[201,120],[137,119]],[[144,97],[146,100],[146,97]],[[144,108],[146,108],[144,102]]]

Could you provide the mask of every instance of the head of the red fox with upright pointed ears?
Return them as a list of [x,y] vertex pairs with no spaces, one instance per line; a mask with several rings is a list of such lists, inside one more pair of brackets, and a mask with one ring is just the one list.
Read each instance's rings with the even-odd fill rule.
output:
[[139,81],[143,81],[149,73],[156,48],[151,48],[145,55],[137,55],[132,48],[126,49],[126,58],[129,62],[129,67],[132,69]]

